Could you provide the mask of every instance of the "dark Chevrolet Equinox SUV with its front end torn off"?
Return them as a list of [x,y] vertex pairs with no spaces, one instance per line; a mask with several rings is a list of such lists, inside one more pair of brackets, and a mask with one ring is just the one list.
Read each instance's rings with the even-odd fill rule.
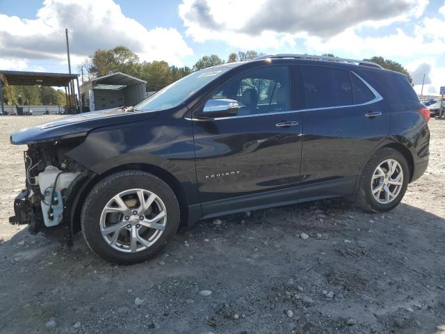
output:
[[28,145],[15,219],[82,231],[97,255],[129,264],[201,218],[337,197],[387,212],[428,166],[429,117],[407,77],[375,63],[219,65],[133,108],[13,134]]

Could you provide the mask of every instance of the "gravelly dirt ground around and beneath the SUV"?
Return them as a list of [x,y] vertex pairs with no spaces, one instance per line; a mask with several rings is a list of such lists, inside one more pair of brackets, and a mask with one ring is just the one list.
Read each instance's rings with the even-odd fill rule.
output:
[[8,223],[24,186],[9,134],[54,118],[0,118],[0,333],[445,333],[445,121],[387,214],[323,200],[224,216],[126,267],[80,234],[69,248]]

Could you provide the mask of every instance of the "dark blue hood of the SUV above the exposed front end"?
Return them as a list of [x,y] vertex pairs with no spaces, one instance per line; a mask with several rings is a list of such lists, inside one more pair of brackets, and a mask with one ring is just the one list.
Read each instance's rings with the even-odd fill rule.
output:
[[[67,116],[33,127],[26,127],[11,134],[14,145],[44,143],[64,138],[86,136],[92,129],[127,122],[147,120],[157,114],[153,111],[125,111],[125,109],[106,109]],[[18,116],[19,117],[19,116]],[[44,117],[44,116],[32,116]]]

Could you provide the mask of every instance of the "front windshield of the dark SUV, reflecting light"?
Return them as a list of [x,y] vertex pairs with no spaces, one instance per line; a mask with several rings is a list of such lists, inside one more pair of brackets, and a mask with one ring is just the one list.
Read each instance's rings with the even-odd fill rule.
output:
[[173,84],[162,88],[143,102],[136,104],[134,110],[137,111],[156,111],[179,106],[187,100],[193,93],[210,81],[216,79],[232,67],[212,67],[189,74],[187,77],[175,81]]

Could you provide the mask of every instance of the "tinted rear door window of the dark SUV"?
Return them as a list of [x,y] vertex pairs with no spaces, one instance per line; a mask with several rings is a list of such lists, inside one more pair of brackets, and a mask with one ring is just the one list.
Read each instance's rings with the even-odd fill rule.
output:
[[302,66],[308,108],[353,104],[349,73],[332,67]]

